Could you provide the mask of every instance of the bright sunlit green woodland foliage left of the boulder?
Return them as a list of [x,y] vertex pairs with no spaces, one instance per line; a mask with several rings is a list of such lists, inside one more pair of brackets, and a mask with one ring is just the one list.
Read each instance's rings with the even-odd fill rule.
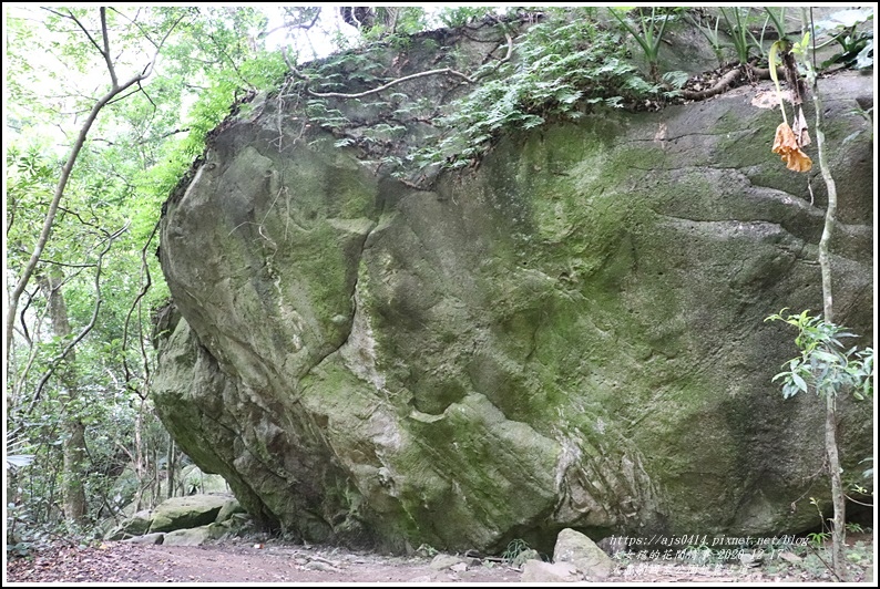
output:
[[[16,80],[8,89],[13,134],[6,154],[10,273],[31,256],[82,112],[105,92],[95,84],[110,84],[95,9],[49,9],[40,18],[18,10],[8,19]],[[276,85],[286,71],[280,55],[256,42],[265,18],[254,9],[135,7],[109,9],[106,21],[120,76],[140,72],[170,23],[181,24],[164,46],[161,75],[101,110],[38,264],[40,279],[23,294],[7,381],[7,428],[18,432],[8,453],[30,457],[8,471],[7,540],[19,549],[92,534],[99,520],[157,484],[168,436],[147,391],[155,361],[151,311],[167,299],[153,255],[161,204],[236,99]],[[55,61],[37,69],[32,54]],[[54,332],[41,286],[49,276],[61,277],[69,334]],[[78,484],[86,513],[75,529],[60,509],[70,424],[84,432]],[[114,488],[127,465],[135,465],[137,483]]]

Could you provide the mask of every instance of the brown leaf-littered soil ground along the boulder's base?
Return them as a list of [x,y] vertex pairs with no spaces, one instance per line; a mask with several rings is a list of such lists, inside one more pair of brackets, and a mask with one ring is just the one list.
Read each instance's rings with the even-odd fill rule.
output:
[[[853,535],[851,581],[874,578],[873,539]],[[7,583],[491,583],[521,581],[519,567],[498,559],[464,559],[467,570],[431,567],[430,556],[391,556],[342,548],[303,546],[282,540],[233,539],[206,546],[152,546],[104,542],[100,547],[59,546],[11,558]],[[760,567],[740,562],[683,564],[622,559],[606,582],[816,582],[832,580],[807,554],[799,561],[766,559]]]

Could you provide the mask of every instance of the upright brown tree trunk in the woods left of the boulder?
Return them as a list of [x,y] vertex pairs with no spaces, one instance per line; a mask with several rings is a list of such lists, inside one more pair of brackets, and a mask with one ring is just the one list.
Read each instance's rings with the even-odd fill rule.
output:
[[[68,307],[64,303],[64,296],[61,292],[63,277],[60,271],[52,270],[48,275],[39,277],[40,288],[43,290],[49,301],[49,318],[52,321],[52,331],[59,338],[71,334],[70,321],[68,319]],[[64,420],[64,437],[61,444],[63,455],[62,497],[64,502],[64,519],[73,524],[82,524],[85,520],[85,426],[80,418],[76,409],[75,374],[72,368],[75,354],[71,351],[68,355],[65,370],[59,373],[62,385],[66,389],[63,400],[62,411]]]

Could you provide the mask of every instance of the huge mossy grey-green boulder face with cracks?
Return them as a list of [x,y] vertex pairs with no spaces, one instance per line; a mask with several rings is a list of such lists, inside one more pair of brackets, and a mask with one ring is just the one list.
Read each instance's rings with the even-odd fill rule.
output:
[[[868,334],[872,136],[847,113],[872,79],[820,87],[837,320]],[[163,422],[252,515],[311,541],[815,526],[822,403],[782,400],[795,333],[764,318],[821,309],[826,193],[818,165],[770,153],[779,114],[755,92],[510,136],[432,192],[318,131],[295,143],[295,113],[260,104],[162,221],[183,317]],[[841,404],[852,466],[871,411]]]

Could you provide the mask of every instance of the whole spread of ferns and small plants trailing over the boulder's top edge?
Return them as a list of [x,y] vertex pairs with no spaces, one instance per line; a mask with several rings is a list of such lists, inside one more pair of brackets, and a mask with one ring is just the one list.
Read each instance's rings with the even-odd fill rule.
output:
[[[441,17],[470,22],[490,13],[490,9],[448,9]],[[504,24],[504,18],[513,20]],[[575,120],[597,108],[632,106],[645,99],[657,101],[673,95],[638,74],[627,60],[621,32],[598,23],[594,8],[549,9],[541,12],[540,19],[528,19],[518,10],[513,17],[495,14],[493,19],[501,31],[511,35],[508,55],[490,60],[467,75],[456,72],[467,78],[473,90],[443,106],[406,94],[402,85],[389,85],[396,79],[381,75],[393,65],[387,63],[388,38],[303,66],[295,72],[297,83],[287,82],[287,95],[299,93],[309,122],[330,131],[337,147],[358,146],[374,158],[365,161],[383,166],[400,178],[471,165],[504,133]],[[521,19],[530,21],[530,25],[514,43],[512,35]],[[431,39],[420,42],[427,48]],[[444,59],[467,61],[454,52]],[[675,78],[674,82],[681,84],[682,80]],[[389,89],[377,92],[376,102],[361,102],[359,93],[372,93],[385,85]],[[330,96],[316,95],[321,93],[337,94],[328,100]],[[334,102],[337,99],[352,103],[357,100],[359,104],[342,107]],[[365,123],[344,114],[362,113],[365,108],[379,121],[375,127],[367,128]],[[402,132],[413,122],[428,123],[436,133],[427,136],[420,148],[395,152],[396,146],[406,143]]]

